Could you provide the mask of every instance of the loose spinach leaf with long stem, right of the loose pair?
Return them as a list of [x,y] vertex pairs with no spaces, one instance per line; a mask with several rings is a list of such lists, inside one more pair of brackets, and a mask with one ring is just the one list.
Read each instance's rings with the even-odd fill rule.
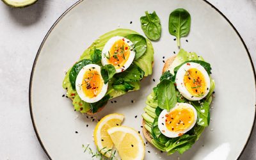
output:
[[178,47],[180,47],[180,37],[188,35],[190,30],[190,23],[190,14],[183,8],[179,8],[170,13],[169,33],[177,37]]

